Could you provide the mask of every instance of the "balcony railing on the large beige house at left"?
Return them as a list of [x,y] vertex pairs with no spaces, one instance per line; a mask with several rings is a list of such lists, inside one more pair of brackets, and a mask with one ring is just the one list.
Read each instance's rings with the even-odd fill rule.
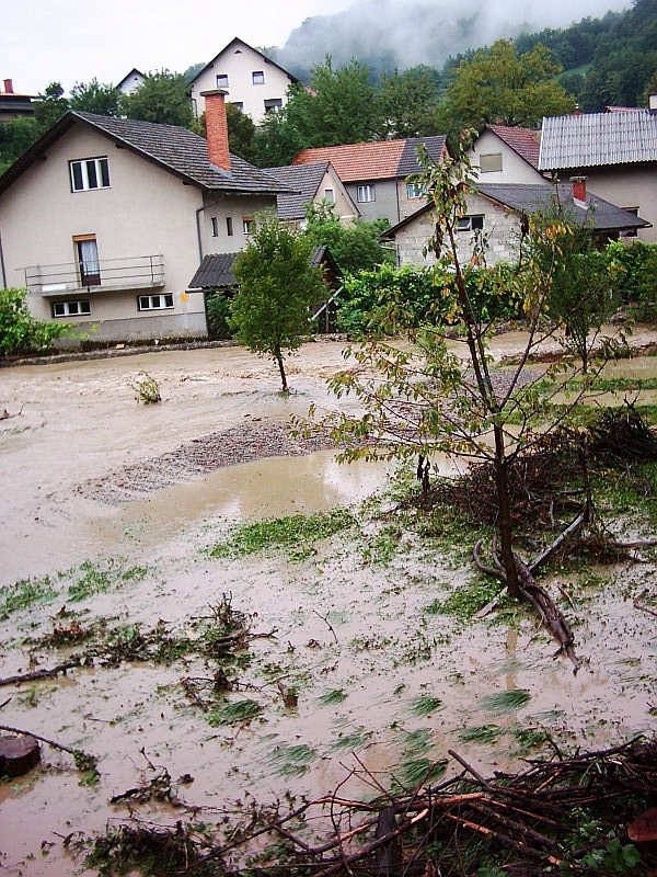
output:
[[25,286],[34,295],[62,293],[107,293],[117,289],[151,289],[164,286],[164,258],[136,255],[101,259],[93,264],[68,262],[60,265],[31,265],[25,269]]

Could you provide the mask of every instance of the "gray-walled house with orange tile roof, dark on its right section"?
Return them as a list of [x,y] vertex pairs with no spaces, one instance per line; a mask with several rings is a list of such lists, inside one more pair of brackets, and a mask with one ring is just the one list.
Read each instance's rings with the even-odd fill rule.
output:
[[419,187],[407,181],[422,170],[417,156],[420,145],[434,161],[448,155],[443,136],[408,137],[302,149],[292,164],[330,161],[362,219],[388,219],[396,225],[424,204]]

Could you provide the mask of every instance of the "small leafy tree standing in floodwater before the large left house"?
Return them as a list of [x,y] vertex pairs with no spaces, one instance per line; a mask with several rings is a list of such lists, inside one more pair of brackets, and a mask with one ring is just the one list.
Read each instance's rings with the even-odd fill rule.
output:
[[310,308],[325,294],[320,269],[310,264],[311,242],[262,216],[245,250],[234,262],[239,289],[231,308],[234,338],[249,350],[272,356],[283,392],[288,392],[284,358],[310,332]]

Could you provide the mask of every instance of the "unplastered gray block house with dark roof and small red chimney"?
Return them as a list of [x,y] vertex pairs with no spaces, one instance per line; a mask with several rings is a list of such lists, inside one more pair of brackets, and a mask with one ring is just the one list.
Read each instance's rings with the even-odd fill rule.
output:
[[[648,224],[635,214],[587,193],[581,182],[551,183],[477,183],[468,194],[468,213],[457,227],[459,259],[466,263],[472,258],[475,239],[486,240],[486,262],[515,262],[518,259],[521,229],[531,214],[549,210],[558,204],[574,223],[590,225],[603,240],[614,240],[627,231],[636,231]],[[389,229],[382,238],[396,247],[397,264],[434,264],[433,253],[424,254],[427,241],[434,236],[434,210],[425,204],[419,210]]]

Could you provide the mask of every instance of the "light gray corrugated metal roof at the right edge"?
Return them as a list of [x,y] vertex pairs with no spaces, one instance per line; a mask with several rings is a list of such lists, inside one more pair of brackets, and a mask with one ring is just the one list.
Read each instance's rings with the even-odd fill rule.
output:
[[657,161],[657,114],[649,110],[543,119],[539,170]]

